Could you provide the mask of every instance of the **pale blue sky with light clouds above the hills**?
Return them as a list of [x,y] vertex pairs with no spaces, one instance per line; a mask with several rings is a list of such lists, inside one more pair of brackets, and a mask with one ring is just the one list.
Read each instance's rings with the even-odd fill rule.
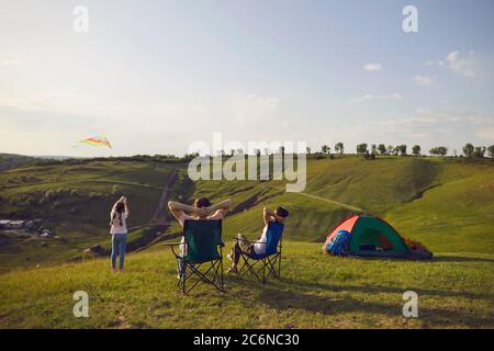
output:
[[[494,144],[493,1],[3,1],[0,151]],[[76,5],[89,32],[75,33]],[[418,10],[418,33],[402,10]],[[113,149],[71,146],[104,133]]]

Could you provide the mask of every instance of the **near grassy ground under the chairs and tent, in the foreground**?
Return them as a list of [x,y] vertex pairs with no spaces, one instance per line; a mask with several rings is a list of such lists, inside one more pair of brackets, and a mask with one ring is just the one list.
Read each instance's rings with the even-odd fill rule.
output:
[[[226,293],[177,286],[162,247],[131,253],[123,274],[108,259],[0,274],[0,328],[492,328],[494,257],[444,254],[435,262],[323,256],[287,241],[282,279],[266,285],[226,276]],[[226,264],[226,262],[225,262]],[[419,318],[402,315],[403,293]],[[75,318],[72,294],[89,295]]]

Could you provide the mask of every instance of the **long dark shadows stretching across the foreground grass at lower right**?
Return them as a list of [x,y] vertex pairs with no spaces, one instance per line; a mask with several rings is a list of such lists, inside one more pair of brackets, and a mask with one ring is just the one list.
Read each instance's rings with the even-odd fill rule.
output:
[[[364,313],[367,315],[385,316],[389,318],[403,318],[403,302],[401,294],[403,288],[384,286],[332,286],[317,283],[299,282],[290,279],[281,281],[270,281],[266,285],[252,280],[228,279],[231,285],[237,285],[251,292],[251,297],[235,296],[257,304],[269,305],[277,310],[303,309],[313,314],[333,315],[348,313]],[[368,294],[393,293],[400,294],[396,304],[380,304],[358,299],[351,296],[334,295],[323,296],[324,292],[359,292]],[[441,291],[416,290],[416,293],[436,296],[458,296],[468,297],[465,294]],[[486,296],[483,298],[493,298]],[[461,308],[446,309],[438,307],[419,307],[419,320],[424,322],[423,327],[439,327],[460,325],[462,327],[487,328],[494,325],[494,315],[486,313],[478,315]]]

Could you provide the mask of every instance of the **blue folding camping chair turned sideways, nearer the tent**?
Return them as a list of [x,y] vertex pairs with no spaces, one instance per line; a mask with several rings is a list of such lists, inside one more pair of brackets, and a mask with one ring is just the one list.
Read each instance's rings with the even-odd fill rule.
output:
[[[281,240],[283,235],[284,225],[277,222],[271,222],[268,225],[266,231],[266,241],[257,241],[266,244],[266,253],[257,254],[255,252],[247,253],[240,250],[240,257],[244,261],[244,265],[238,271],[238,278],[243,278],[245,274],[250,273],[257,278],[262,284],[269,275],[273,275],[277,279],[281,278]],[[237,240],[243,240],[238,239]],[[256,270],[256,265],[258,269]],[[261,275],[262,273],[262,275]]]

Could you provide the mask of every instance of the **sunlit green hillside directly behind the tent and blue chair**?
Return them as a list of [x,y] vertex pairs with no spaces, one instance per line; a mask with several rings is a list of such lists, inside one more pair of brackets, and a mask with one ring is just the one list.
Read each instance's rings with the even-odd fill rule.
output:
[[341,218],[364,212],[390,220],[433,251],[494,252],[494,162],[436,158],[308,160],[304,193],[283,182],[200,181],[191,197],[233,200],[228,235],[262,228],[263,206],[291,211],[285,236],[321,241]]

